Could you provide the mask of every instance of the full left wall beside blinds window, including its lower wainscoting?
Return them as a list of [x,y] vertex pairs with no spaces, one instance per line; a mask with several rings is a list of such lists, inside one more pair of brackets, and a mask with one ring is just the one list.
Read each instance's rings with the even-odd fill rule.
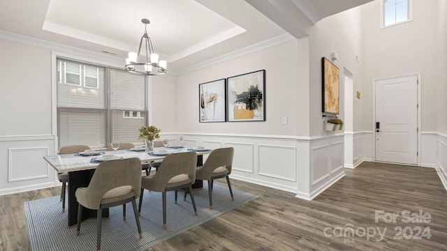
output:
[[0,195],[54,186],[51,51],[0,38],[0,65]]

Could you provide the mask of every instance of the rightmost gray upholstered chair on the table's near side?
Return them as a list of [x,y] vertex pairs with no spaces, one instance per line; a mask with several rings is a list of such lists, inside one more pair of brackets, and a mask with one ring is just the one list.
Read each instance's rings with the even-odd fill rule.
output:
[[[231,190],[230,178],[231,166],[233,165],[233,147],[214,149],[208,156],[205,164],[202,167],[197,167],[196,178],[198,180],[208,181],[208,195],[210,197],[210,209],[212,210],[212,185],[216,178],[226,177],[228,188],[230,189],[231,199],[233,197],[233,191]],[[186,197],[186,195],[185,195]]]

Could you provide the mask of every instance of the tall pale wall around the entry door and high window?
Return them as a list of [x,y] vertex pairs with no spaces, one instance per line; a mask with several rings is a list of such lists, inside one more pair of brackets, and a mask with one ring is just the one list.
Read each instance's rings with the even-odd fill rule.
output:
[[380,29],[379,1],[362,9],[363,129],[372,130],[372,79],[421,73],[422,131],[437,130],[438,1],[413,1],[413,21]]

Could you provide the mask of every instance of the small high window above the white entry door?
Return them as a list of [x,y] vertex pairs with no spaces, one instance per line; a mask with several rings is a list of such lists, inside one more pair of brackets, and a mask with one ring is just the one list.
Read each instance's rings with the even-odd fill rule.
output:
[[381,29],[413,20],[413,0],[380,0]]

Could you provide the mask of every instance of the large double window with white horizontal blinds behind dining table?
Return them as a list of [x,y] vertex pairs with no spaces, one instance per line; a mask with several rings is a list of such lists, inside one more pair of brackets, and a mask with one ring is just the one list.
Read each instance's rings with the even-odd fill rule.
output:
[[140,142],[138,129],[147,124],[145,76],[57,59],[57,79],[59,146]]

